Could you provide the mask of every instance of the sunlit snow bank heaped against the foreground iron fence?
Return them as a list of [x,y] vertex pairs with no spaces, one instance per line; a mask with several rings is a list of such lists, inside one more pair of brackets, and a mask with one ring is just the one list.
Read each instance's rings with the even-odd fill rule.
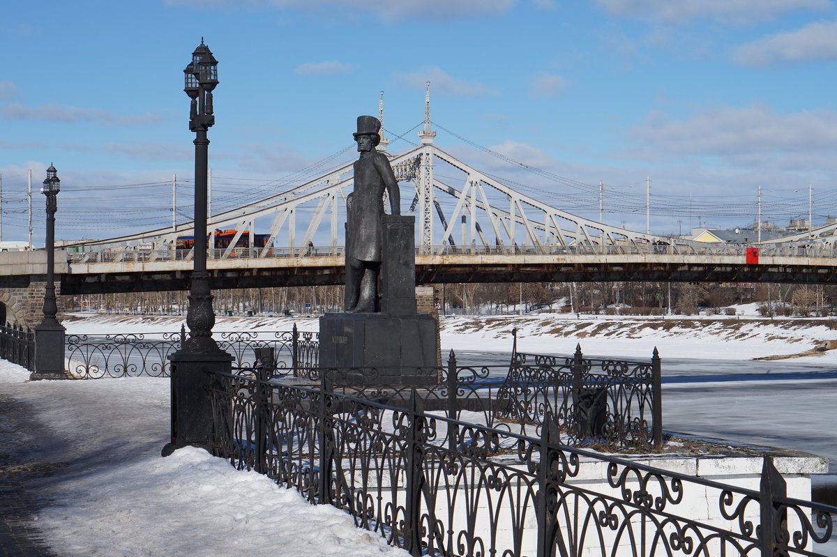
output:
[[40,514],[40,528],[65,557],[406,555],[331,505],[306,503],[195,447],[110,468],[95,483]]

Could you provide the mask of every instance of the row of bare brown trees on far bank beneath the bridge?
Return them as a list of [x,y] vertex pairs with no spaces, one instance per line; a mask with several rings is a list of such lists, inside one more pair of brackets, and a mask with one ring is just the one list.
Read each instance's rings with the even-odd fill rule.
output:
[[[217,314],[321,314],[342,309],[342,286],[215,290]],[[444,314],[513,314],[537,310],[577,314],[734,314],[729,306],[757,303],[763,315],[831,314],[837,286],[697,283],[439,284]],[[186,292],[63,296],[65,310],[185,314]]]

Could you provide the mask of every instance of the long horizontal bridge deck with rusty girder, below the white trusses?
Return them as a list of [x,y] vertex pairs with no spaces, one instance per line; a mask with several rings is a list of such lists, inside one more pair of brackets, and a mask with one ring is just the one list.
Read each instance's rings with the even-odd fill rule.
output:
[[[649,250],[619,247],[480,248],[476,253],[446,248],[416,256],[419,284],[496,282],[777,282],[837,284],[837,253],[831,249],[769,248],[747,258],[742,246],[707,246],[675,253],[674,246]],[[286,253],[284,257],[209,258],[213,289],[311,286],[343,283],[341,248],[335,254]],[[441,250],[439,250],[441,251]],[[628,252],[628,253],[619,253]],[[0,277],[43,276],[43,251],[0,254]],[[56,253],[62,294],[182,290],[193,262],[185,251]],[[164,257],[163,257],[164,256]],[[110,260],[109,260],[110,259]]]

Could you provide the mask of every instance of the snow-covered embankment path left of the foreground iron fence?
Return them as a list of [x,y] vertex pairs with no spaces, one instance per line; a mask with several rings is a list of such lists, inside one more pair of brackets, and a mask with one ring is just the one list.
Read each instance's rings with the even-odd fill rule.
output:
[[336,508],[312,506],[202,449],[160,457],[169,435],[167,380],[27,379],[28,371],[0,360],[0,391],[28,402],[49,428],[33,447],[33,458],[56,465],[39,479],[51,504],[37,525],[61,557],[407,555]]

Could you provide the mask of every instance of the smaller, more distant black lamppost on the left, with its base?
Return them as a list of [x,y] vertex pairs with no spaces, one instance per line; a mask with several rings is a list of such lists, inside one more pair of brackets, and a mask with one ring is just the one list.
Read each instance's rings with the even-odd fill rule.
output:
[[55,212],[58,211],[58,192],[61,181],[55,167],[49,165],[47,178],[41,193],[47,197],[47,284],[44,289],[44,320],[35,327],[35,370],[29,377],[39,379],[65,379],[64,375],[64,327],[56,319],[58,304],[55,302]]

